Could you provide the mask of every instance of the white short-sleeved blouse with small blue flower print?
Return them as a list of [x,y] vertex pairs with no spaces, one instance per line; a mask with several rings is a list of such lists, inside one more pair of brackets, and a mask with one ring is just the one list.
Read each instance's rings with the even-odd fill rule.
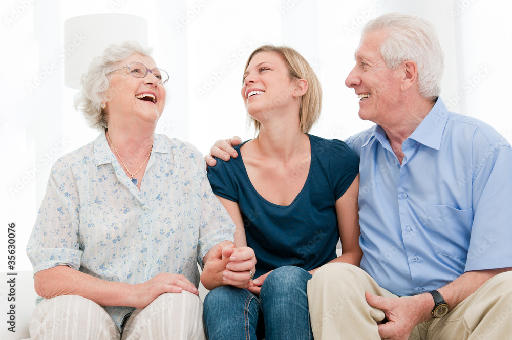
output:
[[[34,274],[68,265],[101,280],[137,284],[169,272],[197,287],[196,262],[202,267],[206,252],[233,241],[233,233],[194,146],[156,134],[139,191],[103,132],[53,165],[27,254]],[[106,309],[121,329],[135,308]]]

